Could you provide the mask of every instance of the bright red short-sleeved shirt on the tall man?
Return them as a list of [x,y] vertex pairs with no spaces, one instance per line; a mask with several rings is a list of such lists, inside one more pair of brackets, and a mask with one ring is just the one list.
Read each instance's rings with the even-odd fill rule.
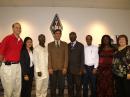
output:
[[6,36],[0,45],[0,55],[4,56],[4,61],[18,62],[23,41],[16,38],[14,34]]

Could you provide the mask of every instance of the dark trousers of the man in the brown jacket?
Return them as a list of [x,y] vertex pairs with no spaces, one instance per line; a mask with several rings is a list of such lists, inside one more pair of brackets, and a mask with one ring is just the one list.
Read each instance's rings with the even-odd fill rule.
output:
[[[64,85],[65,76],[62,74],[62,70],[53,71],[53,74],[50,75],[51,97],[64,97]],[[56,89],[58,89],[58,96],[56,95]]]

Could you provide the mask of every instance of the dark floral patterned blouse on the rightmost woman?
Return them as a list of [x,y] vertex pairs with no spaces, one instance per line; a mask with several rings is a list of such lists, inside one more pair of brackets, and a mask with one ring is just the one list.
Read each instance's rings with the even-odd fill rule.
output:
[[126,75],[130,73],[130,46],[114,53],[112,66],[115,75],[126,78]]

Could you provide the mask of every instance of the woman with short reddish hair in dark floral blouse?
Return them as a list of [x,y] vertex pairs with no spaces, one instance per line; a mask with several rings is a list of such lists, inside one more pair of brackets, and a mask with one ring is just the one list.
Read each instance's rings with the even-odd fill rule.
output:
[[116,97],[130,97],[130,47],[126,35],[117,39],[118,50],[113,58]]

